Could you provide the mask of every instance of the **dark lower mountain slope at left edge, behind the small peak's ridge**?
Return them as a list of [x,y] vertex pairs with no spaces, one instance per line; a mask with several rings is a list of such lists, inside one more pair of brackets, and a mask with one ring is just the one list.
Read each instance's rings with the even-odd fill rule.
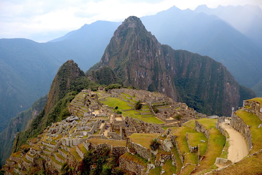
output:
[[36,115],[43,110],[46,100],[47,95],[37,100],[28,110],[20,112],[9,121],[7,128],[0,133],[0,167],[4,165],[7,157],[10,155],[17,132],[28,129]]

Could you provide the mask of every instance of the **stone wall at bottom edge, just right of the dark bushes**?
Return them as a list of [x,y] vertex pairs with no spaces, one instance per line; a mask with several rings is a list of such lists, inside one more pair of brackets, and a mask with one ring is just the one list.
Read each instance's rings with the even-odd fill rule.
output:
[[123,157],[119,158],[119,167],[127,171],[134,172],[135,174],[138,174],[138,175],[141,175],[142,171],[145,169],[144,166],[139,165],[138,163],[135,163]]

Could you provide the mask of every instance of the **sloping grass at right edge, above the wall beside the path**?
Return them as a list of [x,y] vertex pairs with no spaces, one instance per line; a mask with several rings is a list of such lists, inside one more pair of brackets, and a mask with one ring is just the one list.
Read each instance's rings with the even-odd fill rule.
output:
[[246,125],[250,126],[251,139],[253,148],[250,150],[249,154],[259,151],[262,148],[262,127],[258,128],[258,125],[262,121],[255,114],[251,114],[242,110],[237,110],[236,115],[242,118]]

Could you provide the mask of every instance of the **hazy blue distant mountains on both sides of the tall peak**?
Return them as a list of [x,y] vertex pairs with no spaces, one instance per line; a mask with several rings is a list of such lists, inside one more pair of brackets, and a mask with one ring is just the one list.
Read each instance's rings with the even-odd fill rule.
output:
[[[172,7],[141,20],[161,44],[208,55],[222,62],[240,84],[249,88],[257,84],[262,75],[262,54],[252,37],[225,19],[198,10]],[[259,9],[252,11],[259,16]],[[73,59],[84,71],[97,63],[120,24],[85,24],[47,43],[0,39],[0,119],[8,121],[46,94],[59,65],[66,60]],[[6,126],[7,122],[1,123],[0,131]]]

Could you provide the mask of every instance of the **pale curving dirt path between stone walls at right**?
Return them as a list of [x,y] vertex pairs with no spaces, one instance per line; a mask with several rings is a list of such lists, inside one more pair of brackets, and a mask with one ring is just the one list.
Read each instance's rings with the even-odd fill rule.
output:
[[221,126],[229,134],[229,148],[228,148],[228,160],[233,163],[240,161],[248,154],[248,145],[243,136],[237,132],[234,128],[230,127],[228,123],[222,123]]

